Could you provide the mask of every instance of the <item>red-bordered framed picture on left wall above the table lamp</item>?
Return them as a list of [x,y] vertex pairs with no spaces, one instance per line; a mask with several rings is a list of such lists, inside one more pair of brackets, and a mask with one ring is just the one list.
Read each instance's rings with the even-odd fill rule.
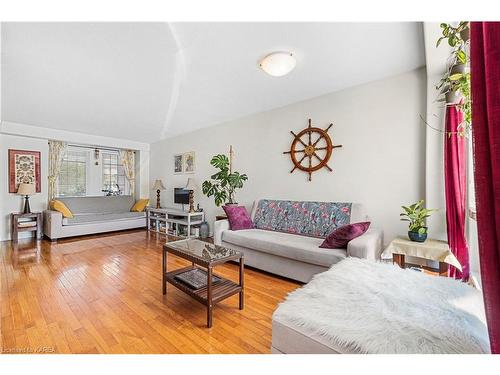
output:
[[17,193],[21,183],[34,184],[41,192],[40,151],[9,149],[9,193]]

